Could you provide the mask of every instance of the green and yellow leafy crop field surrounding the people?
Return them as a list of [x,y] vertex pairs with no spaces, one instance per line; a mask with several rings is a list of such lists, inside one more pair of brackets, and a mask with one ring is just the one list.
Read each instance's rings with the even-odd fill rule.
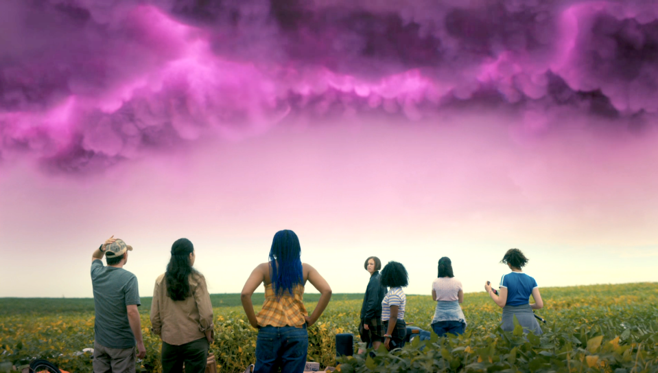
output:
[[[548,324],[541,337],[502,332],[500,308],[486,293],[467,293],[462,304],[469,325],[465,335],[414,339],[402,351],[378,351],[336,361],[335,335],[357,335],[360,294],[334,295],[317,324],[309,328],[309,361],[341,372],[658,372],[658,284],[543,288]],[[315,298],[313,298],[315,296]],[[262,297],[262,295],[260,295]],[[254,303],[262,298],[255,296]],[[309,311],[317,295],[305,295]],[[215,342],[212,352],[222,372],[242,372],[255,360],[256,330],[248,326],[239,295],[213,295]],[[160,341],[150,335],[143,298],[142,328],[147,357],[142,371],[159,372]],[[434,302],[409,295],[406,321],[430,330]],[[520,333],[519,333],[520,332]],[[14,365],[41,357],[69,372],[91,372],[92,299],[0,299],[0,363]],[[355,346],[357,348],[357,346]]]

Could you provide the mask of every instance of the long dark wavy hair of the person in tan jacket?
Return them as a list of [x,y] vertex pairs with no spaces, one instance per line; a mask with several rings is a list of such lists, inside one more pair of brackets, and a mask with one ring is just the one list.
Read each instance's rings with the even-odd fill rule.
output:
[[167,295],[172,300],[185,300],[191,296],[189,275],[196,272],[189,262],[189,254],[194,251],[194,245],[187,238],[180,238],[172,245],[172,259],[167,264],[165,280]]

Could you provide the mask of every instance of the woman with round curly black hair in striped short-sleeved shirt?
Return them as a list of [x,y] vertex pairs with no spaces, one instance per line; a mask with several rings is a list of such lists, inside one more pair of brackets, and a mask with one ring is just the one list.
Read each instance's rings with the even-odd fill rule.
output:
[[379,275],[381,286],[390,290],[381,301],[381,321],[386,330],[384,346],[387,350],[402,348],[407,335],[407,325],[404,322],[404,308],[407,305],[407,295],[402,290],[409,284],[409,275],[399,262],[388,262]]

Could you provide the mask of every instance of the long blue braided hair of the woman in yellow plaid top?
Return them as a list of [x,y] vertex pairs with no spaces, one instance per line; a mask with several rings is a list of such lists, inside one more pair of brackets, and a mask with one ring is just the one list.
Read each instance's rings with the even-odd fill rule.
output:
[[[270,278],[277,298],[280,299],[284,293],[292,295],[294,287],[302,284],[304,277],[300,256],[299,238],[294,231],[284,229],[274,234],[270,249]],[[274,260],[279,264],[278,269]]]

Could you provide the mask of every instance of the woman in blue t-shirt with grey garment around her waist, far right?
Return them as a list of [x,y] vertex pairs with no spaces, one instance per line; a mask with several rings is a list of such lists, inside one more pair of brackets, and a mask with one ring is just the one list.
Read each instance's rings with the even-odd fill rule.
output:
[[[532,313],[532,310],[539,310],[543,307],[539,286],[534,278],[521,271],[521,268],[528,263],[528,258],[519,249],[509,249],[500,262],[507,264],[512,272],[503,275],[500,279],[498,295],[494,293],[489,281],[484,284],[484,290],[489,293],[495,304],[503,308],[502,330],[508,332],[514,330],[514,316],[516,315],[519,324],[524,327],[526,332],[531,330],[534,334],[541,335],[543,332]],[[531,294],[534,299],[532,304],[530,304]]]

